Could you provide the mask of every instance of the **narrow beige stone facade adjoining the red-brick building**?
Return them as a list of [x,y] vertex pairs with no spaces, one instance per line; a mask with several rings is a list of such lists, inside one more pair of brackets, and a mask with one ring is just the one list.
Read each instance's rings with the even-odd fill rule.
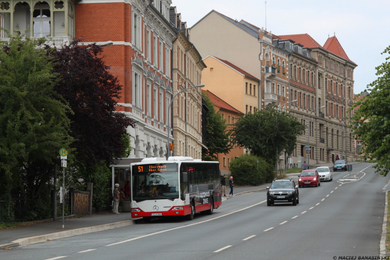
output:
[[[176,7],[170,7],[170,22],[178,36],[173,44],[173,94],[184,88],[200,84],[202,70],[206,67],[194,44],[190,32]],[[207,149],[202,138],[202,95],[200,88],[181,92],[173,102],[174,154],[202,158],[202,148]]]

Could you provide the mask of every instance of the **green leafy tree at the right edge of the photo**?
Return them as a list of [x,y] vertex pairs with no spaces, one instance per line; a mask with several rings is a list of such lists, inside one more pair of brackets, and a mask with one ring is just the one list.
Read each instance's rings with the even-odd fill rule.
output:
[[[390,46],[381,54],[390,54]],[[378,79],[367,87],[371,94],[354,103],[354,108],[360,106],[351,117],[357,138],[362,140],[362,152],[366,159],[376,159],[376,172],[386,176],[390,170],[390,57],[376,67]],[[363,94],[360,93],[360,94]],[[364,123],[363,123],[364,122]]]

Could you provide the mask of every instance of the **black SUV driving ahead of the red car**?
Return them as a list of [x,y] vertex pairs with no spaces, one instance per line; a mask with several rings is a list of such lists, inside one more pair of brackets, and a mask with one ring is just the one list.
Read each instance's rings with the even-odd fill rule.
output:
[[293,205],[299,204],[298,186],[293,179],[277,180],[271,183],[271,188],[267,187],[267,206],[275,202],[293,202]]

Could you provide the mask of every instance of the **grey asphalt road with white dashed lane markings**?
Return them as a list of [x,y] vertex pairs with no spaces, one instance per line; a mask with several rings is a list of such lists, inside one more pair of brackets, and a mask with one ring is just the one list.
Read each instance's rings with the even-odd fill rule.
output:
[[[88,233],[0,252],[1,260],[99,259],[333,259],[378,256],[385,193],[390,179],[364,168],[362,179],[300,188],[300,203],[266,205],[266,192],[223,202],[212,216],[193,221],[154,219],[150,223]],[[367,168],[368,167],[368,168]]]

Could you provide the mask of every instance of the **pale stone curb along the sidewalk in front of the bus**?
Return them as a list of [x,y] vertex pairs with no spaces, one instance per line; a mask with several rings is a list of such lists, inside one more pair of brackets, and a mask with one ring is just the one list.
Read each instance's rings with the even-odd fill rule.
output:
[[119,221],[119,222],[114,222],[114,223],[108,223],[108,224],[103,224],[103,225],[97,225],[97,226],[88,226],[85,228],[75,228],[75,229],[71,229],[71,230],[49,233],[49,234],[45,234],[45,235],[37,235],[34,237],[25,237],[25,238],[21,238],[21,239],[17,239],[15,241],[12,241],[11,243],[8,243],[8,244],[0,245],[0,250],[3,250],[5,248],[12,248],[15,246],[25,246],[28,244],[46,242],[47,239],[50,239],[50,240],[60,239],[60,238],[64,238],[64,237],[72,237],[74,235],[81,235],[81,234],[85,234],[85,233],[108,230],[108,229],[112,229],[112,228],[119,228],[122,226],[129,226],[129,225],[133,225],[135,223],[135,221],[137,221],[138,219],[141,219],[141,218],[135,218],[135,219]]

